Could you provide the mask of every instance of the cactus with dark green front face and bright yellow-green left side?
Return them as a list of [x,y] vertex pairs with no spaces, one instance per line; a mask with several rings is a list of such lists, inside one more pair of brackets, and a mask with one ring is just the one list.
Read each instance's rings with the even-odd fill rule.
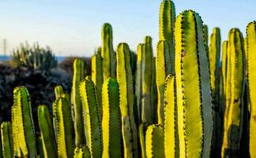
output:
[[119,83],[109,78],[103,85],[103,156],[122,157],[122,121],[119,107]]

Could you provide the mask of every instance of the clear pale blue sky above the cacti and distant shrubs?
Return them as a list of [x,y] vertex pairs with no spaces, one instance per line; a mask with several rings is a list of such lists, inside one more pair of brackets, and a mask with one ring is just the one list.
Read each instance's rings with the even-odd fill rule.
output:
[[[10,52],[25,40],[49,45],[57,55],[90,56],[101,45],[101,26],[111,23],[114,47],[126,42],[131,50],[144,36],[158,40],[161,0],[7,0],[0,2],[0,52],[7,39]],[[230,28],[245,33],[256,20],[255,0],[175,0],[176,15],[184,9],[198,12],[204,24],[221,28],[222,40]]]

